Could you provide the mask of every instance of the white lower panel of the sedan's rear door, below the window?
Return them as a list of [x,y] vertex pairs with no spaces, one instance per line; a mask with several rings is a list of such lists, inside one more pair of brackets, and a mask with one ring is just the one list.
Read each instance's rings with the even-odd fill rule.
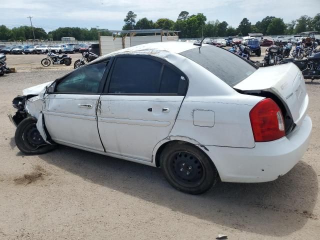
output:
[[157,142],[168,136],[183,96],[101,95],[98,128],[105,150],[151,161]]

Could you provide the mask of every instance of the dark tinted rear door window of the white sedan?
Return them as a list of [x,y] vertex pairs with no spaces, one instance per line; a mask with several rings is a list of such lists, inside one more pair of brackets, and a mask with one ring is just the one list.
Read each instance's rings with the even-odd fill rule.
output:
[[185,94],[183,74],[162,61],[142,56],[117,57],[109,89],[116,94]]

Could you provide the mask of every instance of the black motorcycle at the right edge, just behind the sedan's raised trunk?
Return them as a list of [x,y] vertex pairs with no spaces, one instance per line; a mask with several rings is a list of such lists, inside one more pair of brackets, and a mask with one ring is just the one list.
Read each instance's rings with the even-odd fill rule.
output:
[[293,62],[301,70],[305,79],[320,79],[320,52],[312,54],[309,58],[296,60],[294,58],[283,59],[279,64]]

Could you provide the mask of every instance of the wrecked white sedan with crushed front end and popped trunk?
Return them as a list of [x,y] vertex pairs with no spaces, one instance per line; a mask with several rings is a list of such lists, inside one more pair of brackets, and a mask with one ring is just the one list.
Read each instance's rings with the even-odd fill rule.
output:
[[193,194],[218,179],[278,178],[306,151],[312,126],[293,63],[258,68],[187,42],[112,52],[24,89],[13,106],[15,142],[26,154],[63,144],[161,167],[172,186]]

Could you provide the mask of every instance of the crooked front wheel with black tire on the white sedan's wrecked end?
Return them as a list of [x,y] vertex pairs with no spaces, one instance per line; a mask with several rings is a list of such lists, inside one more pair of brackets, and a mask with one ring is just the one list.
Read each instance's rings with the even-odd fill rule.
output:
[[35,117],[27,117],[16,127],[14,134],[15,144],[25,154],[42,154],[56,147],[56,145],[48,144],[43,140],[36,129],[36,122]]

